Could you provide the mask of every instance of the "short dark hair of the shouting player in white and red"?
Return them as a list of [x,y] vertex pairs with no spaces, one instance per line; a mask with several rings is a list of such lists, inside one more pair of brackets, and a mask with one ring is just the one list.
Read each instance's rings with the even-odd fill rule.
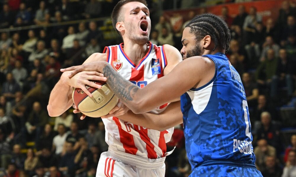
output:
[[121,36],[120,32],[116,29],[116,23],[117,23],[118,21],[120,21],[120,20],[119,20],[119,14],[120,14],[121,7],[122,7],[124,4],[127,4],[127,3],[129,3],[129,2],[140,2],[140,3],[143,3],[145,6],[147,6],[147,2],[146,2],[146,0],[121,0],[121,1],[119,1],[119,2],[115,5],[115,7],[114,7],[114,9],[113,9],[113,11],[112,11],[112,14],[111,14],[111,19],[112,19],[112,25],[113,25],[115,31],[118,32],[118,34],[119,34],[120,36]]

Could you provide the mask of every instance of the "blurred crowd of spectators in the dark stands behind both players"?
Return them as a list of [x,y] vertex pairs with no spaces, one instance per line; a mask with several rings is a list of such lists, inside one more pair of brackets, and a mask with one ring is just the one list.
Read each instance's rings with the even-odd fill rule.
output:
[[[60,68],[79,65],[92,53],[102,52],[105,45],[119,43],[119,36],[107,40],[109,33],[104,29],[112,28],[110,22],[93,20],[110,16],[117,1],[36,2],[1,1],[0,29],[39,26],[1,33],[0,176],[95,176],[100,153],[108,149],[101,119],[80,120],[71,109],[59,117],[49,117],[46,105],[61,75]],[[181,7],[182,1],[177,2]],[[151,0],[148,4],[152,14],[151,42],[170,44],[179,50],[189,20],[207,13],[206,8],[201,8],[198,12],[188,11],[186,17],[167,17],[158,12],[161,6],[170,8],[165,1],[159,4]],[[295,129],[294,135],[281,131],[295,127],[295,117],[287,119],[280,112],[281,107],[295,108],[296,103],[295,4],[283,1],[277,19],[266,22],[255,7],[246,9],[243,5],[236,17],[229,15],[226,6],[219,15],[231,30],[227,57],[244,84],[257,168],[263,176],[295,176]],[[65,23],[78,19],[86,21]],[[165,161],[166,176],[188,176],[191,167],[181,125],[175,127],[168,150],[176,144],[174,153]]]

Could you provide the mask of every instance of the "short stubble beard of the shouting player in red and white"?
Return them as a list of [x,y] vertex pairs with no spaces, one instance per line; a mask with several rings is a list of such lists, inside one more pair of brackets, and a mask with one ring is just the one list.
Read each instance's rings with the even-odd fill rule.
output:
[[145,35],[138,35],[134,33],[135,29],[138,28],[135,26],[134,23],[127,23],[126,28],[127,28],[126,35],[128,36],[129,39],[131,39],[135,43],[146,44],[149,41],[149,34],[145,36]]

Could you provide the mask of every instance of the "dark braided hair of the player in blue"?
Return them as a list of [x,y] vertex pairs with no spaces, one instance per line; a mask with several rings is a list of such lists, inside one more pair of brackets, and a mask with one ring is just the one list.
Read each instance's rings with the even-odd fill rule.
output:
[[194,17],[186,27],[190,28],[190,33],[194,33],[196,40],[200,41],[206,35],[210,35],[214,40],[216,48],[229,49],[230,30],[226,22],[214,14],[202,14]]

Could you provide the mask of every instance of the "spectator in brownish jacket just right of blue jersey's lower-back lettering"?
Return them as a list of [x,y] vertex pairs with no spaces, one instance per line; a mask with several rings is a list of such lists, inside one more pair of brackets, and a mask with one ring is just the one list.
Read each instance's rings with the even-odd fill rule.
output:
[[256,162],[259,170],[264,168],[264,160],[267,156],[276,156],[276,149],[267,144],[265,139],[258,140],[258,146],[254,149]]

